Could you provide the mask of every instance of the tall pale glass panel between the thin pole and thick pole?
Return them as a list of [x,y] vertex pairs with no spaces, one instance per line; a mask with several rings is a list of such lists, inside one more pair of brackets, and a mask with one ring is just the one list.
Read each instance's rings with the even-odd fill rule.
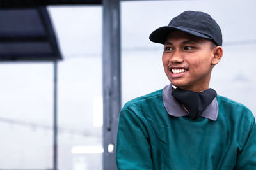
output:
[[102,169],[102,8],[51,6],[58,65],[58,167]]

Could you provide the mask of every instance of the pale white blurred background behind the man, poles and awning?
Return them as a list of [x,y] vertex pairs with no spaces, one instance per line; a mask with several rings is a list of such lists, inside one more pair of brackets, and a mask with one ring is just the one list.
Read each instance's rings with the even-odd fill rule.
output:
[[[256,1],[121,1],[122,106],[168,85],[149,34],[185,10],[223,33],[211,87],[256,113]],[[58,169],[102,169],[102,6],[47,6],[58,62]],[[4,23],[0,23],[3,25]],[[52,169],[52,62],[0,62],[0,169]]]

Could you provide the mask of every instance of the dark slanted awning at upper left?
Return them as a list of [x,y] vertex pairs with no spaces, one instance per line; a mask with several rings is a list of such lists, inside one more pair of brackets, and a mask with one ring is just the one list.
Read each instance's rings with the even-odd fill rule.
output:
[[0,60],[59,60],[60,50],[47,9],[0,10]]

